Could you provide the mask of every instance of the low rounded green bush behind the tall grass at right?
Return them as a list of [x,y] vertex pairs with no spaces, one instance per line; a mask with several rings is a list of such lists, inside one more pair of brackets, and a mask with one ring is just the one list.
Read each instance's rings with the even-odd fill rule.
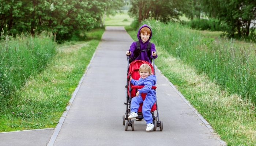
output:
[[182,21],[182,24],[196,30],[225,31],[228,29],[227,24],[218,19],[193,19],[190,21]]

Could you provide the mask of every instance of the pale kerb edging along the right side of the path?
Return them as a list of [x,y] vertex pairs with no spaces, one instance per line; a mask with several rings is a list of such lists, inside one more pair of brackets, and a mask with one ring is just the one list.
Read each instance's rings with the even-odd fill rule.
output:
[[[177,90],[177,88],[172,84],[172,82],[169,81],[169,79],[167,77],[165,77],[163,75],[163,73],[161,72],[161,70],[159,70],[157,68],[157,66],[155,65],[155,68],[158,70],[158,72],[163,76],[163,78],[165,78],[165,80],[171,85],[171,87],[178,93],[178,95],[185,101],[185,103],[188,104],[188,106],[196,113],[196,115],[203,121],[204,125],[211,131],[212,134],[216,135],[217,132],[211,127],[211,125],[207,122],[206,119],[204,119],[204,117],[196,110],[196,108],[193,107],[193,105],[191,105],[189,103],[189,101],[180,93],[180,91]],[[226,146],[226,142],[222,141],[221,138],[216,137],[218,139],[218,141],[221,143],[222,146]]]

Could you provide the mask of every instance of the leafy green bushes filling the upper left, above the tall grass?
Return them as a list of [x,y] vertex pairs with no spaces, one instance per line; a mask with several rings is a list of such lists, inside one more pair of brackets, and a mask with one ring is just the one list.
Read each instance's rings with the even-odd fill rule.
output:
[[0,28],[5,32],[8,30],[8,34],[35,34],[46,30],[57,34],[56,39],[60,41],[83,35],[84,31],[99,26],[105,11],[112,13],[125,1],[0,0],[0,3]]

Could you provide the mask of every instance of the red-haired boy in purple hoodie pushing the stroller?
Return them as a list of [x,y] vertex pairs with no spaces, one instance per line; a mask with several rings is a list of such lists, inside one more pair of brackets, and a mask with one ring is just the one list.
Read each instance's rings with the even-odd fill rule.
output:
[[152,37],[152,31],[149,26],[144,24],[140,27],[137,37],[139,41],[133,42],[130,49],[126,52],[131,61],[144,60],[151,63],[153,56],[157,58],[157,52],[155,51],[155,44],[149,42]]

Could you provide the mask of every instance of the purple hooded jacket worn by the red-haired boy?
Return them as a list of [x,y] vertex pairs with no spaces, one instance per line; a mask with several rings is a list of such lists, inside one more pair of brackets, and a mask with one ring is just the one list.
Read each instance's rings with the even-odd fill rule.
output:
[[[149,39],[147,40],[147,42],[143,43],[141,38],[140,38],[140,30],[142,27],[148,27],[151,31],[151,34],[150,34],[150,37]],[[147,26],[146,24],[144,24],[142,27],[140,27],[139,31],[138,31],[138,34],[137,34],[137,38],[139,39],[140,41],[140,50],[145,50],[147,49],[147,44],[148,42],[150,41],[151,37],[152,37],[152,30],[149,26]],[[136,42],[133,42],[132,45],[130,46],[130,49],[129,51],[131,51],[131,55],[129,56],[129,58],[131,58],[133,56],[133,51],[135,50],[135,48],[137,48],[137,45],[136,45]],[[155,51],[155,44],[152,43],[151,45],[151,50],[150,50],[150,57],[152,58],[152,52]],[[157,58],[157,55],[155,56],[155,58]],[[135,60],[144,60],[144,61],[147,61],[147,62],[150,62],[150,59],[148,58],[147,56],[147,51],[143,51],[140,53],[139,57],[137,57]],[[151,62],[150,62],[151,63]]]

